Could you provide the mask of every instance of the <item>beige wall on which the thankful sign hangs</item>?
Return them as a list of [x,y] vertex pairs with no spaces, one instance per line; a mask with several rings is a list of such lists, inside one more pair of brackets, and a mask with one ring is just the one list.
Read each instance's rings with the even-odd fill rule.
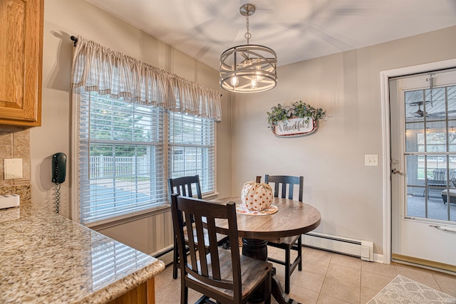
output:
[[[264,174],[304,176],[304,201],[321,211],[316,231],[374,242],[383,254],[380,71],[455,58],[456,27],[282,66],[274,90],[233,102],[232,193]],[[306,51],[306,50],[302,50]],[[280,61],[280,58],[279,58]],[[278,138],[266,112],[302,100],[328,112],[318,132]],[[364,155],[378,154],[379,167]]]

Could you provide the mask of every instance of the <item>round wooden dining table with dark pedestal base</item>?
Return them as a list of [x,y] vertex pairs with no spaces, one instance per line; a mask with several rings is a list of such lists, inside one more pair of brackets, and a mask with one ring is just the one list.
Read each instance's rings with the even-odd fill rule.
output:
[[[214,199],[220,203],[234,201],[241,204],[241,197],[224,197]],[[237,231],[242,238],[242,254],[266,261],[268,256],[267,241],[278,242],[286,236],[297,236],[305,234],[318,227],[321,221],[321,214],[314,206],[294,201],[292,199],[281,199],[274,197],[272,205],[278,211],[269,215],[251,215],[237,213]],[[220,229],[227,229],[227,222],[220,220],[216,223]],[[279,279],[272,276],[271,293],[280,304],[298,304],[296,300],[289,298],[284,293]],[[258,293],[261,295],[261,293]],[[261,301],[261,298],[252,299],[253,302]]]

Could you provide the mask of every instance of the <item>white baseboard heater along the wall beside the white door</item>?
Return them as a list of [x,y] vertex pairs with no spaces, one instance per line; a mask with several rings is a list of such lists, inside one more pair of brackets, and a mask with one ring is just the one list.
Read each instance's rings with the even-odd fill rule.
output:
[[302,235],[302,244],[311,248],[358,256],[363,261],[373,261],[373,242],[331,236],[318,232]]

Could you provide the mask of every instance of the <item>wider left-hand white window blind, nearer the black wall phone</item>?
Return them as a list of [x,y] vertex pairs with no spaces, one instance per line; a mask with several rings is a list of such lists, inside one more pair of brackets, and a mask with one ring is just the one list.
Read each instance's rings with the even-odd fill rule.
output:
[[163,110],[92,92],[80,116],[81,223],[166,204]]

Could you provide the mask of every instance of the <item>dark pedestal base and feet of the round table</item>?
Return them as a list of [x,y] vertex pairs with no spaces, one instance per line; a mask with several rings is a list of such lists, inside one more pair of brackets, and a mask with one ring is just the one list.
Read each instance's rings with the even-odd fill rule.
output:
[[[267,241],[257,239],[242,239],[242,254],[251,258],[257,258],[261,261],[266,261],[268,257]],[[274,299],[279,304],[300,304],[296,300],[290,299],[279,282],[279,278],[276,277],[276,269],[272,270],[272,284],[271,293]],[[250,299],[251,302],[257,303],[263,300],[263,290],[259,288],[256,293]]]

